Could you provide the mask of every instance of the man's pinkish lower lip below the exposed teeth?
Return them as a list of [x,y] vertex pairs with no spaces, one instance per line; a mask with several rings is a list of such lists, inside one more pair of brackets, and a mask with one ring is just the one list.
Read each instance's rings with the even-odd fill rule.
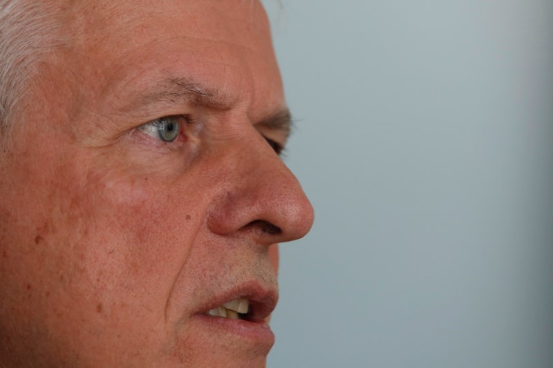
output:
[[266,322],[231,320],[205,314],[196,314],[193,319],[217,334],[231,335],[241,340],[269,347],[274,344],[274,333]]

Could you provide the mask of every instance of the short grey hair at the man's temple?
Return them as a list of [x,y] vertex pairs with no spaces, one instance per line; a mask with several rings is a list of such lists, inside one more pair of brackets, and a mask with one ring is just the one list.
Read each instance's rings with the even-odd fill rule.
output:
[[10,121],[41,61],[59,44],[48,3],[0,0],[0,138],[9,135]]

